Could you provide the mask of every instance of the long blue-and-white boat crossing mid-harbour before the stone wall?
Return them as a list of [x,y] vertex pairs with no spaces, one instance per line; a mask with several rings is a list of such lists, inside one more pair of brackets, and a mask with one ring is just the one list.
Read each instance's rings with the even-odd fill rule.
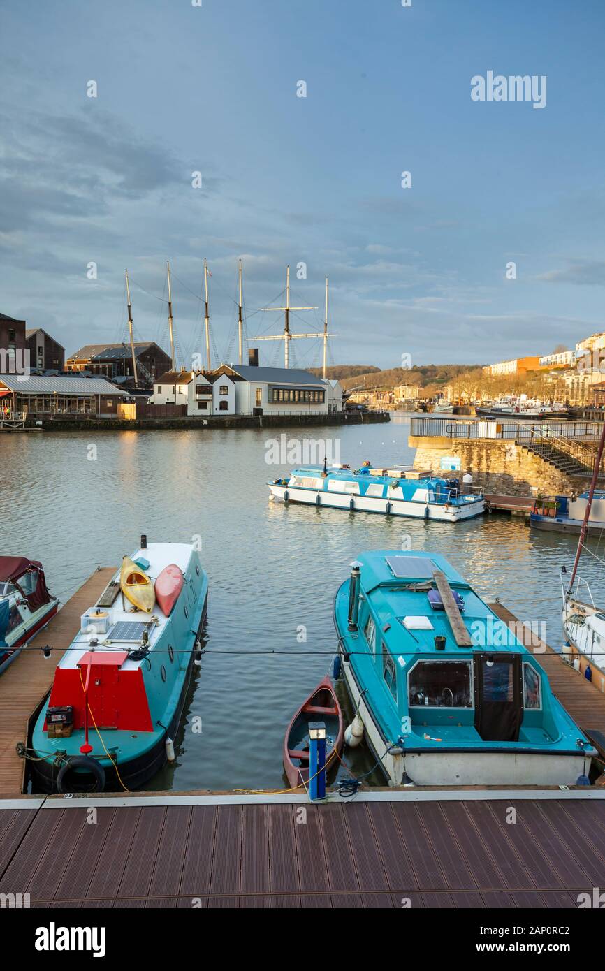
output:
[[411,467],[375,469],[369,462],[358,469],[308,465],[267,485],[272,497],[284,502],[387,516],[457,522],[481,516],[485,510],[484,496],[462,492],[457,479],[435,478]]

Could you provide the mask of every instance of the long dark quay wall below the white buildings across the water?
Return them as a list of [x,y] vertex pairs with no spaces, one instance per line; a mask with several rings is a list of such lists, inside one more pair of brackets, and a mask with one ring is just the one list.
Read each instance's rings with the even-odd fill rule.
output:
[[142,431],[194,428],[271,428],[296,427],[311,425],[348,425],[374,424],[378,421],[389,421],[388,412],[339,412],[332,415],[225,415],[209,416],[208,418],[157,418],[157,419],[48,419],[37,425],[34,420],[28,422],[27,429],[36,428],[39,431]]

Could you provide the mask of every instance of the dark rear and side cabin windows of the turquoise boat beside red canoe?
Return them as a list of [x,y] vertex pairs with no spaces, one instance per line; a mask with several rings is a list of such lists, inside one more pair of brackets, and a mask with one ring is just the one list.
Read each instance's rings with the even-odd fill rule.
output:
[[[370,616],[364,627],[369,650],[376,657],[376,625]],[[397,676],[395,662],[383,649],[383,677],[395,702]],[[508,661],[483,661],[483,697],[485,701],[513,700],[513,665]],[[527,661],[523,661],[523,708],[532,711],[542,708],[540,676]],[[408,700],[410,708],[473,708],[470,660],[418,661],[410,671]]]

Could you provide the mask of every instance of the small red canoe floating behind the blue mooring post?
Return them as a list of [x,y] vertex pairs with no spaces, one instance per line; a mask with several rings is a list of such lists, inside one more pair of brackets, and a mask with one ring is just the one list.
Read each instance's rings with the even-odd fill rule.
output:
[[[328,773],[336,768],[343,750],[344,725],[343,713],[332,682],[326,676],[309,695],[287,726],[284,740],[284,768],[290,788],[309,782],[309,722],[323,721],[325,724],[325,760]],[[304,789],[303,789],[304,791]]]

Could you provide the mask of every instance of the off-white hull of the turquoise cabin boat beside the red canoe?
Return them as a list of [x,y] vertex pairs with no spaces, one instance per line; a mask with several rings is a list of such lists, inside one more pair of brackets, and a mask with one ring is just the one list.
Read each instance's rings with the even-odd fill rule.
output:
[[[342,654],[341,654],[342,658]],[[342,660],[343,674],[354,707],[363,721],[364,740],[377,760],[385,742],[365,699],[360,696],[351,664]],[[387,753],[382,761],[389,786],[573,786],[588,775],[590,757],[581,752],[555,753],[448,752]],[[404,781],[404,771],[407,780]]]

